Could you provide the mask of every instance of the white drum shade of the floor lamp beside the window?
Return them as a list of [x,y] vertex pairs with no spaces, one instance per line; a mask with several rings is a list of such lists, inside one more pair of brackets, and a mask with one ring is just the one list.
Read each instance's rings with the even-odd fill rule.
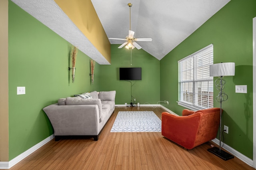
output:
[[210,76],[220,77],[235,75],[235,63],[217,63],[210,65]]

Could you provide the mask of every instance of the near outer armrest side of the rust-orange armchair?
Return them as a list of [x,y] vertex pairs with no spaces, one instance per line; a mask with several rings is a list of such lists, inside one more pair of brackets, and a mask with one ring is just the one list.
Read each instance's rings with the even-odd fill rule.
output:
[[191,149],[196,140],[201,117],[202,113],[183,117],[163,112],[162,135],[187,149]]

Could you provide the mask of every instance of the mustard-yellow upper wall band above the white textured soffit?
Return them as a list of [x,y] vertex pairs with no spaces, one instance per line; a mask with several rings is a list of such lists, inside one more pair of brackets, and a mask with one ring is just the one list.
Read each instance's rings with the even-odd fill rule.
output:
[[55,2],[111,63],[110,42],[92,2],[90,0],[55,0]]

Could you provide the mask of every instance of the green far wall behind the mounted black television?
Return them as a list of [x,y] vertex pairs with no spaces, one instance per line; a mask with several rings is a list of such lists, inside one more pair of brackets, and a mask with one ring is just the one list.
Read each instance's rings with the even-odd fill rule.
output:
[[131,83],[119,80],[119,67],[142,67],[142,80],[131,81],[132,96],[136,103],[156,104],[160,100],[160,61],[143,49],[134,48],[131,65],[130,49],[118,46],[111,45],[111,65],[100,65],[100,91],[116,90],[116,104],[129,104]]

